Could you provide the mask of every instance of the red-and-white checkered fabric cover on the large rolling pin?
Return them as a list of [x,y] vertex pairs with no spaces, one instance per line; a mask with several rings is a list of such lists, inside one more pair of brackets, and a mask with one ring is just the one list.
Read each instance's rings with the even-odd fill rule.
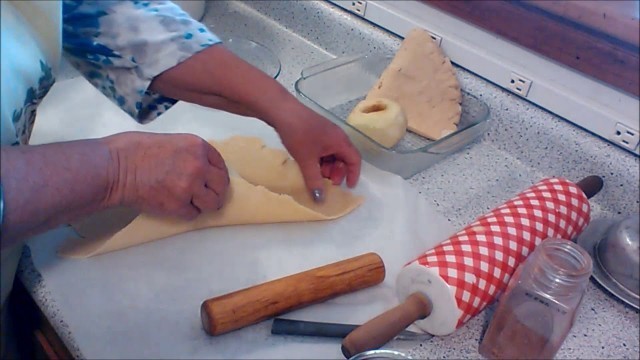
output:
[[504,290],[517,266],[547,238],[571,240],[590,220],[589,200],[574,183],[545,179],[478,218],[417,262],[455,289],[459,328]]

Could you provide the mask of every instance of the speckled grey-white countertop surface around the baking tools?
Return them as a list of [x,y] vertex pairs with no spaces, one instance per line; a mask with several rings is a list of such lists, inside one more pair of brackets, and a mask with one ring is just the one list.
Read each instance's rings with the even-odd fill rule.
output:
[[[241,36],[278,54],[278,77],[291,92],[300,71],[337,56],[392,53],[397,37],[325,2],[216,1],[203,19],[221,37]],[[639,211],[639,159],[600,138],[458,68],[462,87],[491,109],[480,140],[408,181],[446,216],[464,227],[548,176],[579,180],[600,175],[604,189],[591,200],[593,218]],[[73,334],[58,320],[46,284],[23,258],[19,276],[72,352]],[[478,345],[494,306],[454,334],[400,350],[414,358],[479,358]],[[575,325],[557,358],[639,358],[638,311],[591,281]],[[393,344],[392,344],[393,346]]]

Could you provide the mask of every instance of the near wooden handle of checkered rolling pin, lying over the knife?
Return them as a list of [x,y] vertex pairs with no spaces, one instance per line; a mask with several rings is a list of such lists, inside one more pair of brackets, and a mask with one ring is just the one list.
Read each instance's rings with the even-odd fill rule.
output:
[[431,314],[431,301],[415,292],[400,305],[353,330],[342,341],[342,354],[348,359],[357,353],[377,349],[396,337],[414,321]]

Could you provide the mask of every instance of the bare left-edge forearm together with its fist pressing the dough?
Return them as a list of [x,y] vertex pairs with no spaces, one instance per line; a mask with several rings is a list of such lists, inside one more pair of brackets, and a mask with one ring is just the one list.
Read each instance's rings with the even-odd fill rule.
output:
[[2,249],[110,206],[193,218],[219,209],[229,184],[220,154],[189,134],[3,146],[0,160]]

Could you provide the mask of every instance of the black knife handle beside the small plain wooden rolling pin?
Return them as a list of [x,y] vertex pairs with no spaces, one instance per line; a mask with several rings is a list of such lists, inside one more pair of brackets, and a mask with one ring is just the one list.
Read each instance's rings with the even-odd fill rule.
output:
[[301,335],[344,338],[357,326],[313,321],[273,319],[271,333],[274,335]]

